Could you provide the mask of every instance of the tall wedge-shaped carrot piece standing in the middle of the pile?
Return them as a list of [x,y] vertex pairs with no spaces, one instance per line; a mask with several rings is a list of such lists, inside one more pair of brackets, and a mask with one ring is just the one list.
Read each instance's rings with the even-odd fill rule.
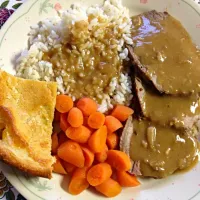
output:
[[102,126],[100,129],[96,130],[88,140],[88,146],[94,153],[99,153],[103,151],[107,138],[107,128]]

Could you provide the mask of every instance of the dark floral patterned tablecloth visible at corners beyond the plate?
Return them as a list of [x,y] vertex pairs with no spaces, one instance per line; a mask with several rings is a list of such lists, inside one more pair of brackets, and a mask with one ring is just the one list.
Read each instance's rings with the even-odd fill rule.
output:
[[[0,0],[0,28],[12,13],[19,8],[25,0]],[[140,0],[141,3],[148,3],[148,0]],[[193,0],[200,4],[200,0]],[[0,169],[0,199],[3,200],[26,200],[9,183]]]

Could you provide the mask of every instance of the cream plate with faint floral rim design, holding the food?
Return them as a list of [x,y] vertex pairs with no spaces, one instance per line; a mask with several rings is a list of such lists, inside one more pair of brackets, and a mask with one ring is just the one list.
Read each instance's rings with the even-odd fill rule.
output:
[[[6,22],[0,31],[0,66],[14,73],[15,57],[27,45],[27,33],[32,24],[46,17],[56,15],[55,8],[69,8],[80,0],[28,0]],[[83,3],[101,3],[100,0],[83,0]],[[143,2],[143,3],[142,3]],[[145,3],[147,2],[147,3]],[[156,9],[168,11],[179,19],[190,32],[194,42],[200,46],[200,7],[192,0],[123,0],[131,14],[136,15]],[[181,78],[181,77],[180,77]],[[67,180],[54,175],[52,180],[28,177],[16,169],[0,162],[0,168],[16,189],[29,200],[98,200],[104,197],[87,190],[79,196],[67,191]],[[116,200],[199,200],[200,163],[185,174],[176,174],[163,180],[141,180],[137,188],[126,188]]]

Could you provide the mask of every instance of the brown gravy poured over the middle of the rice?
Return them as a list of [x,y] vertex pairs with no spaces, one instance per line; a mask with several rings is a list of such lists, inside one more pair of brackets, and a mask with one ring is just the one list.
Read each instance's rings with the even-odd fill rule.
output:
[[119,78],[122,63],[113,43],[112,27],[100,41],[88,32],[85,21],[76,22],[69,44],[45,53],[43,60],[53,64],[55,76],[62,72],[63,82],[76,99],[89,96],[100,103],[113,77]]

